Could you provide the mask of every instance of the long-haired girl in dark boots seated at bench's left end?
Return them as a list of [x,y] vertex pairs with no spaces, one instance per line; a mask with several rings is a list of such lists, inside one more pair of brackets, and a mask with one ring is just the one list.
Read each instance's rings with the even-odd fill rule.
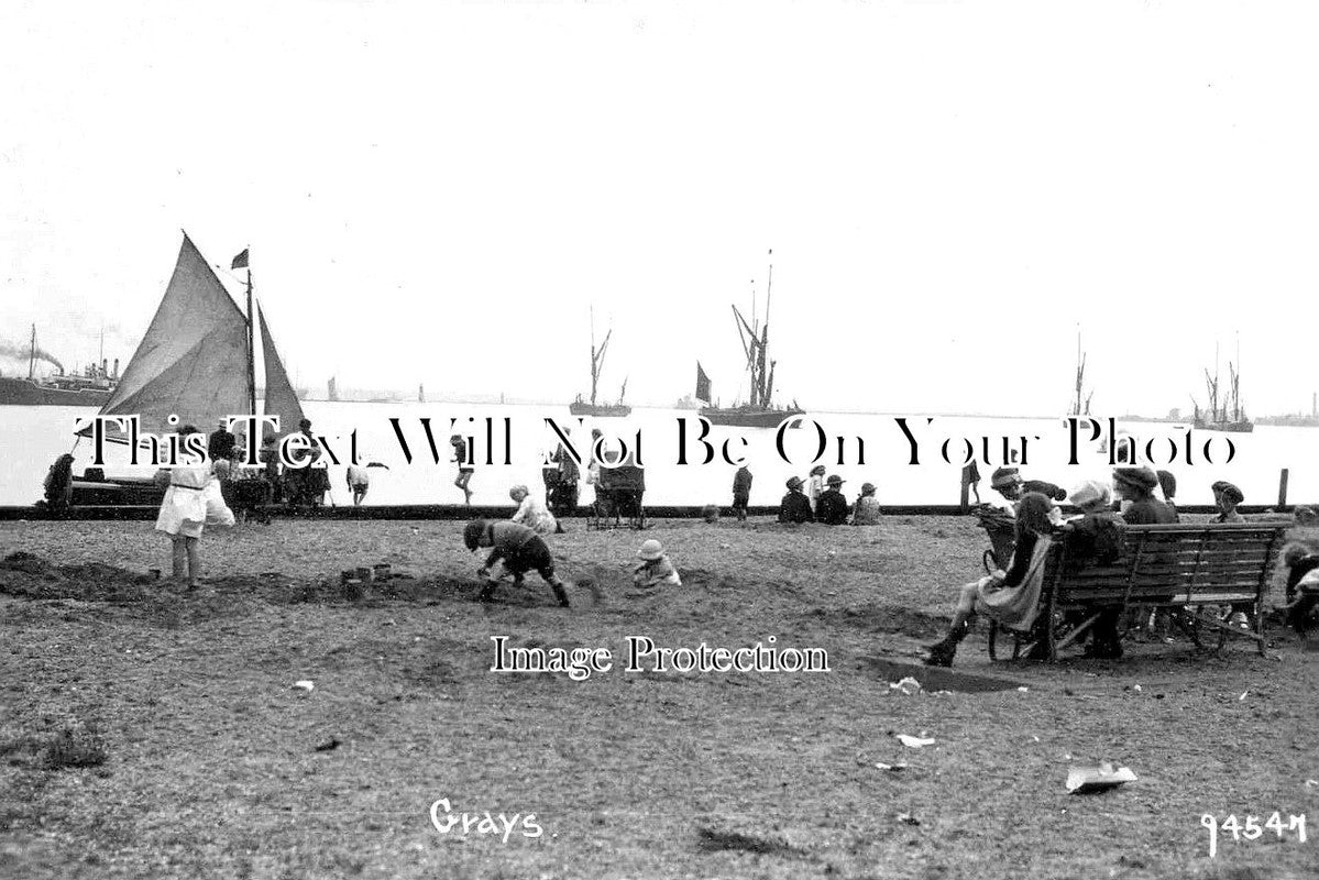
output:
[[1039,611],[1045,559],[1053,544],[1054,503],[1039,492],[1028,492],[1017,505],[1017,544],[1008,571],[963,584],[948,635],[929,646],[929,666],[951,666],[952,657],[969,629],[971,617],[985,613],[1009,629],[1028,631]]

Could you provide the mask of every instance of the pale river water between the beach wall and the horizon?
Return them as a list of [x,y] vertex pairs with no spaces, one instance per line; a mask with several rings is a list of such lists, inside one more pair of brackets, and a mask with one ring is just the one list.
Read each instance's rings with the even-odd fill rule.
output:
[[[533,492],[543,486],[541,456],[545,450],[557,445],[546,418],[570,429],[570,437],[582,443],[583,453],[592,426],[605,431],[609,449],[617,449],[620,441],[632,449],[640,433],[641,460],[646,468],[646,501],[656,505],[728,504],[736,467],[719,455],[725,442],[729,456],[745,455],[754,474],[751,503],[777,504],[789,476],[807,475],[818,450],[816,425],[827,438],[827,451],[820,463],[826,464],[830,474],[839,474],[847,480],[843,491],[848,499],[860,492],[863,482],[871,482],[878,487],[881,504],[955,504],[966,441],[971,442],[983,459],[988,438],[988,453],[995,463],[980,464],[984,478],[981,491],[985,493],[993,466],[1004,458],[1005,438],[1018,455],[1021,438],[1026,438],[1026,458],[1021,467],[1026,479],[1043,479],[1070,488],[1082,479],[1107,478],[1112,470],[1100,443],[1089,439],[1088,425],[1082,426],[1078,438],[1078,463],[1070,463],[1071,435],[1062,417],[1041,420],[927,417],[917,413],[813,413],[802,427],[782,433],[782,453],[776,447],[774,430],[715,426],[708,439],[715,445],[716,458],[707,464],[703,463],[704,447],[694,439],[700,430],[696,414],[685,410],[638,408],[628,418],[586,420],[579,424],[566,406],[306,401],[303,408],[314,422],[315,433],[326,438],[330,449],[343,462],[330,466],[332,499],[340,505],[350,503],[344,470],[353,430],[357,433],[361,456],[389,466],[389,470],[371,468],[372,486],[367,504],[462,503],[462,492],[452,486],[456,466],[448,460],[448,435],[454,433],[450,430],[451,420],[455,420],[452,424],[458,433],[475,439],[477,468],[471,482],[475,504],[508,504],[508,489],[518,483],[532,487]],[[92,450],[88,441],[79,442],[74,449],[74,429],[79,420],[91,416],[95,416],[95,410],[84,408],[0,406],[0,504],[32,504],[41,497],[46,470],[62,453],[74,451],[74,472],[80,475],[83,467],[91,463]],[[410,443],[412,464],[406,463],[392,418],[398,420]],[[422,418],[430,418],[439,447],[438,466],[431,460],[421,427]],[[915,439],[917,464],[910,463],[913,443],[898,425],[898,418],[906,420]],[[933,424],[927,422],[929,418],[933,418]],[[686,464],[678,463],[682,451],[679,425],[686,426]],[[214,430],[212,425],[199,427]],[[1117,427],[1140,438],[1142,446],[1145,441],[1153,441],[1155,466],[1170,470],[1177,476],[1177,500],[1181,504],[1211,504],[1210,484],[1215,480],[1236,483],[1244,491],[1246,504],[1274,504],[1281,468],[1290,470],[1290,503],[1319,501],[1319,466],[1312,458],[1315,441],[1319,439],[1316,429],[1260,426],[1253,434],[1219,434],[1187,431],[1186,425],[1162,422],[1120,424]],[[495,443],[487,451],[488,434]],[[505,437],[512,441],[508,449]],[[844,438],[842,463],[838,437]],[[946,439],[951,441],[948,449],[954,463],[940,458],[940,447]],[[1213,462],[1204,460],[1207,441]],[[1235,456],[1231,463],[1223,463],[1228,441],[1235,447]],[[1187,446],[1191,447],[1190,463]],[[128,466],[124,447],[108,449],[108,475],[149,476],[153,472],[149,466]],[[1177,460],[1167,463],[1174,450]],[[485,463],[487,456],[493,464]],[[583,497],[590,497],[590,493],[583,493]]]

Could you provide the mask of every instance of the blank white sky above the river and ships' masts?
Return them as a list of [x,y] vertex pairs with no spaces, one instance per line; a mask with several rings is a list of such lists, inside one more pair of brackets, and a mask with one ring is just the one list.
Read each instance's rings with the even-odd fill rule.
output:
[[[299,385],[1308,410],[1312,3],[11,3],[0,340],[128,360],[181,230]],[[239,293],[236,274],[220,277]],[[12,375],[26,364],[0,359]]]

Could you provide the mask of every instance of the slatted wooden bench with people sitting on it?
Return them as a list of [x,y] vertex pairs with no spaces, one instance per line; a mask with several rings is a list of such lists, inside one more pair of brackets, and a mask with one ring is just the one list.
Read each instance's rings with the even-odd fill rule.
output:
[[[1075,644],[1104,611],[1175,608],[1174,623],[1202,646],[1216,636],[1215,650],[1228,637],[1256,643],[1265,653],[1264,595],[1269,588],[1287,524],[1128,525],[1122,554],[1113,565],[1078,569],[1058,541],[1045,566],[1039,619],[1030,633],[1014,636],[1013,658],[1045,640],[1050,661]],[[1248,611],[1249,628],[1232,625],[1232,610]],[[1001,627],[991,623],[989,657],[997,660]]]

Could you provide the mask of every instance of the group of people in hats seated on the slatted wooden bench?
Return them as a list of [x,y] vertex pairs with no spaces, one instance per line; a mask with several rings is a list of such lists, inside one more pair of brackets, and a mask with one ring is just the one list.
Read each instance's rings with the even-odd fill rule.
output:
[[[1002,504],[991,507],[998,507],[1001,516],[1009,517],[1012,522],[1013,549],[1006,554],[1012,561],[1006,570],[1000,567],[979,581],[963,584],[948,633],[929,646],[929,665],[952,665],[958,643],[966,636],[976,613],[988,615],[1012,629],[1030,631],[1038,613],[1045,559],[1055,541],[1067,541],[1070,567],[1112,565],[1121,554],[1125,525],[1171,524],[1179,519],[1173,505],[1175,478],[1167,471],[1155,472],[1148,467],[1119,467],[1112,474],[1112,484],[1086,480],[1070,496],[1054,491],[1057,487],[1053,484],[1031,484],[1021,479],[1014,467],[995,471],[991,486],[1004,500]],[[1212,521],[1242,522],[1237,512],[1244,500],[1241,489],[1227,482],[1215,483],[1212,488],[1219,508]],[[1068,497],[1080,513],[1063,520],[1054,501]],[[1312,567],[1319,571],[1319,557],[1315,557]],[[1298,582],[1299,578],[1297,575]],[[1314,582],[1319,603],[1319,574]],[[1121,657],[1117,633],[1121,611],[1121,607],[1113,607],[1099,616],[1091,631],[1087,656]],[[1237,610],[1233,621],[1237,616],[1244,616],[1244,612]],[[1045,650],[1043,640],[1035,639],[1028,658],[1042,660]]]

